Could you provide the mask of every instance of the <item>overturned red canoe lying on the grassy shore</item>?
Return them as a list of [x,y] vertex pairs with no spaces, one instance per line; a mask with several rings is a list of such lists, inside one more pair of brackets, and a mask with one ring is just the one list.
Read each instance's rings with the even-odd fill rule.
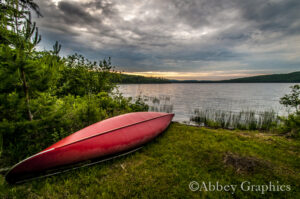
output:
[[13,183],[33,173],[138,148],[162,133],[173,116],[137,112],[92,124],[19,162],[7,173],[6,180]]

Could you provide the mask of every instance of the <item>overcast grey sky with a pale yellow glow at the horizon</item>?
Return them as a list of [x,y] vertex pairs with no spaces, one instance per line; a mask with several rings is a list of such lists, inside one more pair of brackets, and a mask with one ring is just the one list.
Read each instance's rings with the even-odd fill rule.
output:
[[299,0],[35,0],[42,42],[116,69],[220,80],[300,71]]

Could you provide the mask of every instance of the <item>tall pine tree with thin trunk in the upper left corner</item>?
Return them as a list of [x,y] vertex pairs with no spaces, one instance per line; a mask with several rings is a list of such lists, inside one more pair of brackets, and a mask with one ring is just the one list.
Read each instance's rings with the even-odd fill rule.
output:
[[[6,0],[1,2],[1,52],[5,53],[2,60],[7,67],[17,71],[22,83],[28,120],[33,116],[30,110],[30,91],[27,74],[35,67],[32,52],[40,42],[38,28],[31,21],[30,8],[40,15],[38,6],[32,0]],[[10,55],[7,54],[10,53]],[[9,59],[10,58],[10,59]]]

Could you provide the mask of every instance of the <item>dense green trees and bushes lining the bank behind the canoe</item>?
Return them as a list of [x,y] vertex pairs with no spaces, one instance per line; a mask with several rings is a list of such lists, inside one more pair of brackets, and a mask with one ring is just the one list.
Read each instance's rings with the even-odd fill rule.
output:
[[0,1],[0,167],[41,151],[97,121],[145,111],[115,90],[120,74],[110,59],[61,57],[61,45],[37,51],[41,35],[32,0]]

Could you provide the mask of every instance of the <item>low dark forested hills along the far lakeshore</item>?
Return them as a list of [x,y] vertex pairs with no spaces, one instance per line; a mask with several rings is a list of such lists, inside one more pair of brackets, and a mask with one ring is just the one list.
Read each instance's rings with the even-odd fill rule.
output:
[[259,75],[230,80],[170,80],[157,77],[121,74],[119,84],[163,84],[163,83],[300,83],[300,71],[287,74]]

